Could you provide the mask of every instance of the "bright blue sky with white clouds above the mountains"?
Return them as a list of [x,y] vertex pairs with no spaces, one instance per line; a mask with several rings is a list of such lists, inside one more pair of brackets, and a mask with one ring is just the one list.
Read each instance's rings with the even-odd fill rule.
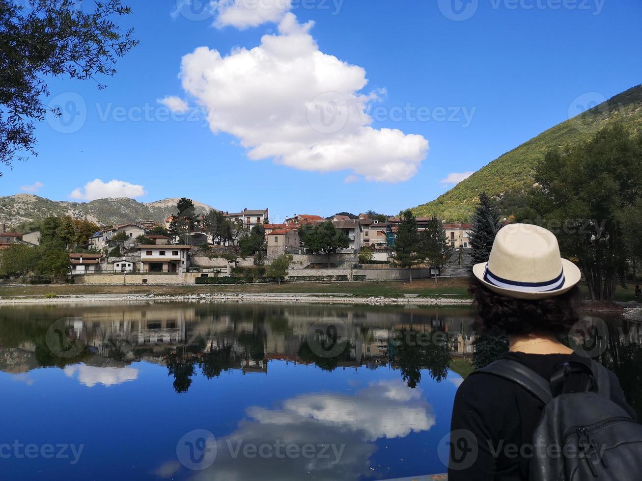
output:
[[638,0],[125,3],[140,46],[107,90],[49,83],[1,195],[393,214],[642,82]]

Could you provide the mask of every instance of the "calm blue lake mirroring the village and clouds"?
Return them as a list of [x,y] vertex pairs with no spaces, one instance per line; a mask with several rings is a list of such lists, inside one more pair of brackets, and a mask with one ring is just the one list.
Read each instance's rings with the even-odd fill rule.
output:
[[[636,326],[607,324],[600,359],[635,402]],[[441,473],[472,329],[467,308],[2,307],[0,478]]]

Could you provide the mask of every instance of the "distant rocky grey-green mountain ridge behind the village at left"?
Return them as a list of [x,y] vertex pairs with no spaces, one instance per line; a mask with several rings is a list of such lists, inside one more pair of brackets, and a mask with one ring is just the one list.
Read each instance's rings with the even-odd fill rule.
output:
[[[91,202],[52,201],[32,194],[0,197],[0,223],[8,226],[40,221],[51,215],[71,215],[97,224],[116,225],[135,221],[162,222],[176,211],[178,198],[140,203],[130,198],[96,199]],[[205,214],[211,207],[194,201],[196,214]]]

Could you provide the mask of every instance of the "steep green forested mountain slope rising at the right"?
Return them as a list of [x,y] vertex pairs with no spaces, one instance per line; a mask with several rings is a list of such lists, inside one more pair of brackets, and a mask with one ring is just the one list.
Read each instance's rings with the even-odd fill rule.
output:
[[496,158],[437,199],[412,211],[415,215],[438,215],[448,221],[467,221],[482,190],[496,199],[508,194],[514,201],[525,189],[532,187],[535,164],[544,158],[548,150],[585,142],[596,131],[618,121],[631,133],[642,130],[642,85],[544,131]]

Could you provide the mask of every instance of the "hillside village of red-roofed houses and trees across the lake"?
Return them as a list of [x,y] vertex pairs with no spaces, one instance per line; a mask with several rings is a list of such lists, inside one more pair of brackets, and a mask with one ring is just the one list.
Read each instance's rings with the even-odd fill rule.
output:
[[[417,239],[435,220],[413,217]],[[398,262],[395,242],[403,221],[367,212],[327,219],[295,214],[273,223],[268,208],[196,214],[193,202],[182,198],[173,211],[168,209],[163,222],[132,219],[98,227],[86,219],[49,217],[31,223],[42,228],[29,232],[8,232],[2,223],[2,251],[42,249],[47,237],[48,242],[64,244],[69,266],[64,275],[58,271],[49,276],[37,269],[0,269],[8,282],[101,284],[403,280],[411,275],[467,274],[471,224],[438,221],[447,258],[431,268],[428,259]],[[95,232],[87,232],[91,226],[96,226]],[[74,230],[78,235],[65,237]],[[411,274],[408,267],[417,268]]]

